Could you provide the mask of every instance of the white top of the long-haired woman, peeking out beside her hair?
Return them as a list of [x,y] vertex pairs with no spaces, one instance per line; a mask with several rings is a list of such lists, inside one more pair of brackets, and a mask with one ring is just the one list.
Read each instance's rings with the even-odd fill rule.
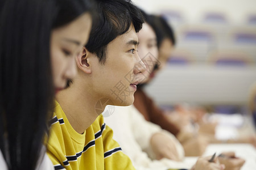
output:
[[[36,170],[54,170],[53,164],[51,162],[51,160],[48,158],[47,154],[46,154],[46,148],[43,147],[42,148],[42,156],[43,156],[43,160],[42,163],[40,165],[38,165],[38,167],[36,168]],[[7,164],[5,162],[5,159],[3,158],[2,152],[0,151],[0,167],[1,170],[7,170]]]

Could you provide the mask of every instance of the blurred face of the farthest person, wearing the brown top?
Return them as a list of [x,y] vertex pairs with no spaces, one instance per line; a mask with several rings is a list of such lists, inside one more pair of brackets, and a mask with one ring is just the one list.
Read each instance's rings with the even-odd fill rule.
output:
[[162,69],[168,59],[171,57],[172,50],[174,49],[174,45],[170,39],[164,39],[159,47],[159,62],[160,69]]

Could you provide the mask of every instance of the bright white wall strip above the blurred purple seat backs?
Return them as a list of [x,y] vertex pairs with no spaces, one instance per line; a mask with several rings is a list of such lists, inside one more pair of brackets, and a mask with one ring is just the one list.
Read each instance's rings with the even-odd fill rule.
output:
[[247,14],[256,14],[255,0],[133,0],[143,10],[160,13],[162,10],[181,10],[189,22],[200,20],[205,11],[223,11],[233,23],[243,23]]

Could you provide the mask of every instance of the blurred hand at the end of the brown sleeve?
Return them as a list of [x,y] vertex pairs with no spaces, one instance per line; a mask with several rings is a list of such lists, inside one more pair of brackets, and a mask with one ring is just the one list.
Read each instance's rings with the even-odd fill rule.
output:
[[209,140],[203,135],[197,135],[182,143],[185,156],[201,156],[209,144]]

